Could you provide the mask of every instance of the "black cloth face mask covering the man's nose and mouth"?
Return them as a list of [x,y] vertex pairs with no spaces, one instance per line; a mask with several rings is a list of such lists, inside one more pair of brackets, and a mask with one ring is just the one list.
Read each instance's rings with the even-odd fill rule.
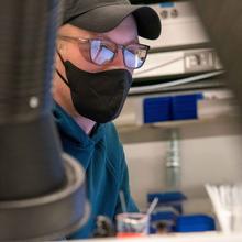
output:
[[79,69],[69,61],[64,62],[67,80],[59,77],[69,87],[74,107],[77,112],[98,123],[116,119],[124,105],[132,76],[125,69],[88,73]]

